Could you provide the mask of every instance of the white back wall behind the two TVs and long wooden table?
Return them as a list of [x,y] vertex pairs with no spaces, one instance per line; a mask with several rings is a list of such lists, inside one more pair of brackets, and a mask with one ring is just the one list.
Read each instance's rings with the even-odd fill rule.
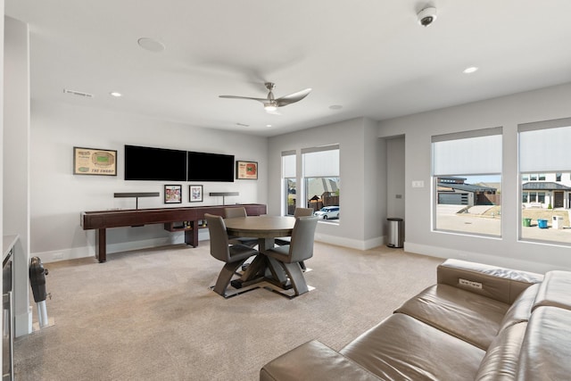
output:
[[[88,107],[88,101],[81,100],[83,104],[76,105],[32,102],[30,247],[43,261],[94,255],[95,231],[83,230],[79,215],[81,211],[135,208],[135,199],[113,198],[116,192],[161,193],[160,197],[139,199],[139,208],[216,205],[222,203],[222,198],[209,193],[226,191],[240,193],[227,197],[227,204],[267,203],[266,137],[95,109]],[[126,144],[234,154],[236,160],[259,162],[259,178],[233,183],[203,182],[203,203],[189,203],[188,185],[201,183],[123,180]],[[73,146],[117,150],[118,175],[73,175]],[[163,203],[165,184],[183,186],[183,203]],[[202,233],[207,235],[207,231]],[[160,224],[107,231],[108,253],[182,242],[183,233],[169,233]]]

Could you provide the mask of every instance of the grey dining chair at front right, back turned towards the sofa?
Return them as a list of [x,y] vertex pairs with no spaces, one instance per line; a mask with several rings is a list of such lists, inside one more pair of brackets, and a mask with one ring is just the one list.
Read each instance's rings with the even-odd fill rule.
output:
[[317,225],[317,217],[298,217],[295,219],[291,243],[274,247],[264,253],[277,260],[284,268],[287,277],[294,286],[295,295],[305,294],[309,291],[300,262],[313,256],[313,241]]

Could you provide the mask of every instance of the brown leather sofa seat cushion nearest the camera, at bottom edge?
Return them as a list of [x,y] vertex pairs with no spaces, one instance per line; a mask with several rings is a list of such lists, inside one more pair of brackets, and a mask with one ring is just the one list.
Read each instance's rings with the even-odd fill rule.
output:
[[484,357],[476,346],[404,314],[390,316],[340,352],[384,380],[473,379]]

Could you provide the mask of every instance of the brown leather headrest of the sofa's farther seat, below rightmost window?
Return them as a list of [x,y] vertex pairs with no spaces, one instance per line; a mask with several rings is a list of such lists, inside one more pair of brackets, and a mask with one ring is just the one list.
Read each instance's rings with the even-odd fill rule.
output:
[[534,309],[541,306],[554,306],[571,310],[571,272],[549,271],[537,292]]

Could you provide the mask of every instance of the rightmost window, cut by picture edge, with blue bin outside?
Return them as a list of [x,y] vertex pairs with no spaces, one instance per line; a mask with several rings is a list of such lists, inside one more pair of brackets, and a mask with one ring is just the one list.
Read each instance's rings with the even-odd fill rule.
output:
[[[571,244],[571,118],[517,126],[522,208],[519,237],[522,240]],[[534,180],[534,176],[537,180]],[[529,178],[529,180],[527,180]]]

